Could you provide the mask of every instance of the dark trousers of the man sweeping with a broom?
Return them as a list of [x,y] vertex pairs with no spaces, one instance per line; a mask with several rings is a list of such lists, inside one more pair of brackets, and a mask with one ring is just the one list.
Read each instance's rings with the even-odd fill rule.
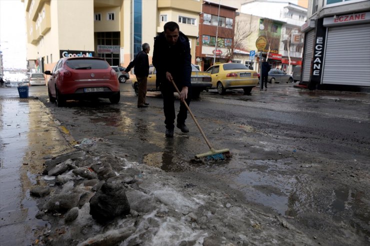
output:
[[[162,97],[163,97],[163,111],[164,111],[164,124],[167,129],[173,129],[174,128],[174,119],[175,117],[175,109],[174,109],[174,95],[173,92],[175,89],[173,88],[173,85],[169,84],[170,82],[167,81],[166,86],[160,86]],[[180,91],[182,88],[178,88]],[[187,99],[185,99],[185,102],[187,105],[190,104],[191,101],[191,87],[188,87],[187,91]],[[185,104],[182,102],[180,103],[180,111],[177,114],[177,123],[178,124],[184,124],[187,117],[187,108]]]

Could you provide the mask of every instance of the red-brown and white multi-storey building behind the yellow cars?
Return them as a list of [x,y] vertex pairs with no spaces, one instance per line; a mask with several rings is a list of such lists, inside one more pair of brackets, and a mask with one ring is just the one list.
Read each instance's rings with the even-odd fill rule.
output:
[[219,2],[202,2],[195,51],[196,63],[202,70],[230,60],[236,9]]

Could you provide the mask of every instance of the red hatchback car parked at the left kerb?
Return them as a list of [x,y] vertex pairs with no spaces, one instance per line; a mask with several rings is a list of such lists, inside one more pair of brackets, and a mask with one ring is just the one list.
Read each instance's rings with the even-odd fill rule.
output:
[[63,106],[68,99],[109,98],[111,103],[118,103],[119,82],[115,71],[108,62],[97,57],[61,58],[47,82],[50,102]]

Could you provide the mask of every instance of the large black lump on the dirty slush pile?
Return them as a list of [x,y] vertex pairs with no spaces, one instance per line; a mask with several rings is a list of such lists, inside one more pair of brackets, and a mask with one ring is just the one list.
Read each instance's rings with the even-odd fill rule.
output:
[[129,212],[125,188],[121,184],[103,184],[90,200],[90,215],[100,224]]

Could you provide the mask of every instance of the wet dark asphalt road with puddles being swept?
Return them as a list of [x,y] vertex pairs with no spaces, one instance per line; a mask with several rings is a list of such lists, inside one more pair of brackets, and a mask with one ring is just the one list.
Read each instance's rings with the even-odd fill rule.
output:
[[[15,88],[5,89],[1,96],[13,96]],[[138,109],[127,82],[117,105],[102,99],[57,108],[46,87],[29,89],[77,141],[108,139],[106,151],[120,148],[131,161],[216,178],[220,185],[210,184],[210,191],[234,188],[251,206],[294,218],[295,226],[328,244],[369,240],[369,94],[310,92],[292,84],[254,88],[251,95],[203,92],[190,108],[214,148],[229,148],[233,157],[199,164],[190,159],[208,148],[190,116],[189,134],[175,129],[173,139],[164,138],[159,93],[148,92],[149,108]]]

